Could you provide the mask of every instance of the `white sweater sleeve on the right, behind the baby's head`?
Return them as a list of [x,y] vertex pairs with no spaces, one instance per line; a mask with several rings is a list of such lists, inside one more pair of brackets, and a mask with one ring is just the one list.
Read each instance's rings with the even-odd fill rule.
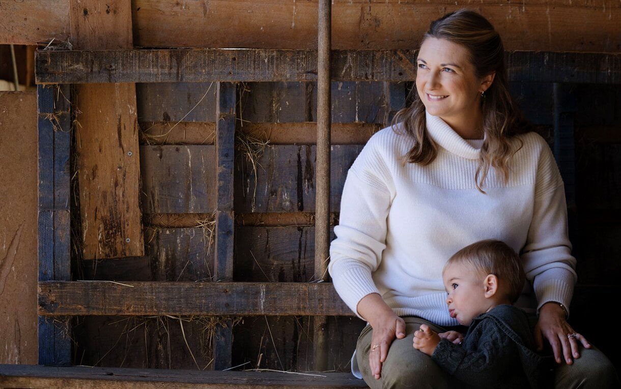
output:
[[533,217],[522,261],[537,296],[537,312],[551,301],[563,303],[569,312],[577,279],[576,258],[568,238],[563,179],[547,144],[538,163]]

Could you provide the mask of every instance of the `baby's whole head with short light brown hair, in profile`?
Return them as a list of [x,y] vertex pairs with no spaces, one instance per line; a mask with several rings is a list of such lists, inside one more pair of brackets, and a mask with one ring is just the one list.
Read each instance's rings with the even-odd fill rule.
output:
[[514,303],[525,278],[520,257],[502,241],[486,239],[466,246],[442,271],[451,318],[469,326],[494,306]]

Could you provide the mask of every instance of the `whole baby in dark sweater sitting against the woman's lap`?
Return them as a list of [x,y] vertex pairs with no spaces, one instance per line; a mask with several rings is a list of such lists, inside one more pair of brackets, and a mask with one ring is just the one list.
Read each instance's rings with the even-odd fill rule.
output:
[[460,344],[422,324],[414,348],[467,385],[485,388],[551,388],[554,357],[533,351],[524,311],[512,305],[525,275],[507,244],[487,239],[461,249],[446,262],[442,279],[451,318],[469,326]]

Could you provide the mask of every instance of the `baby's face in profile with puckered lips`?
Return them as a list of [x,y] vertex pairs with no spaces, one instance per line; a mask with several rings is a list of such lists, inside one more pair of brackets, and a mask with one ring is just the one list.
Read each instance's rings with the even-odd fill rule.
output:
[[[487,275],[487,274],[486,274]],[[448,296],[446,304],[451,318],[464,326],[489,309],[490,301],[485,298],[486,275],[479,274],[466,264],[451,264],[442,274]]]

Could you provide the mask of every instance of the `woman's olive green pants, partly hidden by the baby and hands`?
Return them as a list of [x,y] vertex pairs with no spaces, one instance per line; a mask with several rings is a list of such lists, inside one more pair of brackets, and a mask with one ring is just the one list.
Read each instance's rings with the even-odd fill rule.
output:
[[[371,388],[463,388],[464,385],[444,372],[433,359],[412,347],[414,331],[420,324],[427,324],[433,331],[443,333],[442,328],[418,317],[406,316],[406,337],[395,339],[382,364],[381,378],[376,380],[369,367],[371,336],[373,329],[367,326],[361,331],[356,345],[356,360],[365,382]],[[532,326],[536,316],[531,316]],[[460,328],[464,332],[464,327]],[[572,388],[619,388],[619,377],[610,360],[595,346],[585,349],[579,346],[580,357],[573,364],[560,364],[555,373],[555,389]]]

